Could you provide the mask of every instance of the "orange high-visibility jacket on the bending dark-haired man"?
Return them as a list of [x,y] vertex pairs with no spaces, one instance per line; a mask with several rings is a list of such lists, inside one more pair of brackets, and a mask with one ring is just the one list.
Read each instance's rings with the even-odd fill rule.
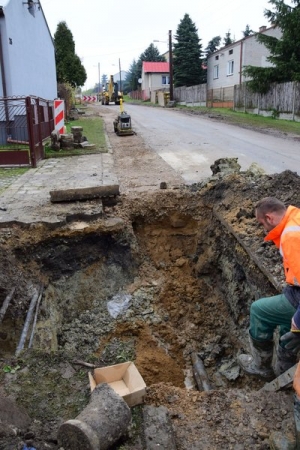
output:
[[286,282],[300,286],[300,209],[289,206],[281,222],[264,240],[273,241],[279,248]]

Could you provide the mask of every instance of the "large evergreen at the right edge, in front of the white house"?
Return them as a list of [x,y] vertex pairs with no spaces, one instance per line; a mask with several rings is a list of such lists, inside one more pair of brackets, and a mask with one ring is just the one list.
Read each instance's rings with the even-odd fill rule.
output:
[[291,0],[295,6],[287,5],[284,0],[269,0],[273,10],[265,10],[265,17],[279,27],[282,36],[277,39],[258,33],[256,39],[270,51],[267,58],[271,67],[246,66],[243,74],[250,77],[248,86],[254,92],[266,93],[271,83],[300,81],[300,0]]

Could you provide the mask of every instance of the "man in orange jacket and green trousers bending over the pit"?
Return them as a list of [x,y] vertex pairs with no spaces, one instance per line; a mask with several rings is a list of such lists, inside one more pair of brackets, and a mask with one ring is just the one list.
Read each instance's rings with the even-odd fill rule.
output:
[[[297,362],[300,349],[300,209],[286,208],[274,197],[260,200],[256,220],[264,227],[265,241],[273,241],[283,258],[286,286],[279,295],[260,298],[250,308],[251,355],[239,355],[244,372],[271,379]],[[272,367],[273,334],[279,327],[277,358]]]

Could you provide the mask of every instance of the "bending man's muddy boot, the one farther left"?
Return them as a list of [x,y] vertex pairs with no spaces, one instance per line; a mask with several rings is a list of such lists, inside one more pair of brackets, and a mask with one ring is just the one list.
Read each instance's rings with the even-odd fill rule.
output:
[[238,363],[248,375],[272,380],[273,341],[257,341],[250,335],[251,355],[239,355]]

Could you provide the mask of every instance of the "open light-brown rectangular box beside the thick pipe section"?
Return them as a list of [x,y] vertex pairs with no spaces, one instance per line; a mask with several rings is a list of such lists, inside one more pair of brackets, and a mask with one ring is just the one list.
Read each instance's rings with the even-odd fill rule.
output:
[[93,375],[89,372],[89,379],[91,391],[99,383],[108,383],[117,394],[123,397],[128,406],[144,402],[146,384],[131,361],[94,369]]

